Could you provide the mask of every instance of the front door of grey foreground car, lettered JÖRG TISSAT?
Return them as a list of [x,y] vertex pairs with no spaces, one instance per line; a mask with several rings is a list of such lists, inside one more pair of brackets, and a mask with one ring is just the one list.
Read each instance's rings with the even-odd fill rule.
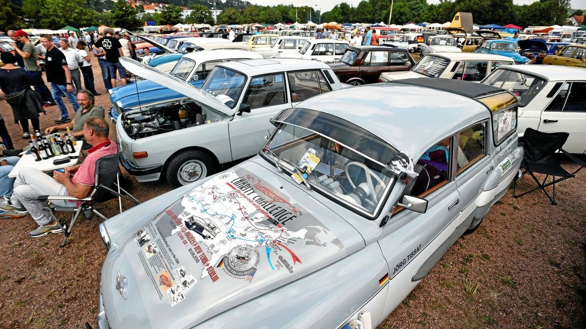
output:
[[[420,214],[397,207],[381,233],[379,245],[389,265],[389,279],[393,280],[400,275],[397,277],[399,282],[395,282],[394,286],[413,285],[411,278],[420,265],[456,228],[455,220],[458,218],[462,203],[458,187],[452,178],[452,170],[449,169],[450,163],[455,161],[454,152],[450,152],[454,139],[448,137],[444,140],[448,140],[444,148],[448,152],[443,153],[443,160],[429,156],[437,152],[438,147],[441,148],[442,140],[437,145],[430,146],[417,161],[418,170],[421,170],[420,175],[415,179],[410,191],[406,191],[406,194],[425,198],[428,201],[427,211]],[[448,156],[448,159],[445,156]],[[445,163],[446,160],[448,163]],[[441,178],[435,177],[440,175]],[[430,245],[431,248],[426,248]],[[414,260],[414,265],[409,266]],[[396,302],[394,294],[396,292],[389,292],[387,297],[391,303]]]

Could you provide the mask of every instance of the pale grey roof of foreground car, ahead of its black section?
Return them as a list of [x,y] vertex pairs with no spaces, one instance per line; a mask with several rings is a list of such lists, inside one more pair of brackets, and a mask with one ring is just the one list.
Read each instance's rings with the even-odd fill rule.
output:
[[[421,81],[425,84],[449,79],[408,80],[425,80]],[[449,81],[464,83],[462,85],[468,83]],[[478,84],[468,84],[478,87]],[[499,90],[491,88],[495,89]],[[435,90],[422,85],[379,83],[353,87],[351,90],[326,92],[296,107],[326,112],[352,122],[414,158],[440,139],[490,116],[488,108],[481,102],[452,91]],[[368,97],[364,98],[364,95]]]

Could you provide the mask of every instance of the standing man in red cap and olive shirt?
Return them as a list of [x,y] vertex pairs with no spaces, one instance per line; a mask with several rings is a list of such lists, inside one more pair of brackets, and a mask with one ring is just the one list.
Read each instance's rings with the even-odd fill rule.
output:
[[43,72],[41,71],[39,64],[37,64],[37,48],[33,46],[32,42],[29,40],[29,35],[23,30],[16,31],[15,36],[22,42],[22,50],[16,47],[16,44],[14,43],[12,43],[12,46],[16,53],[22,57],[25,63],[26,73],[30,77],[30,80],[33,81],[36,92],[40,94],[45,103],[43,104],[43,107],[57,105],[53,102],[53,97],[51,97],[49,88],[47,88],[45,81],[43,81]]

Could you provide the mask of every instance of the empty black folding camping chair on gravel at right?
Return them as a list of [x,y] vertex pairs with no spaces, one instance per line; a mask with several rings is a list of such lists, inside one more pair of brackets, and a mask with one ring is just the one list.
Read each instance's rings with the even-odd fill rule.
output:
[[[542,190],[543,193],[551,201],[551,204],[557,205],[556,203],[556,183],[562,180],[574,177],[582,168],[586,167],[586,162],[578,159],[577,157],[566,152],[561,147],[564,145],[565,140],[568,139],[570,134],[567,132],[540,132],[532,128],[527,128],[524,133],[524,145],[525,154],[521,162],[523,168],[523,174],[530,174],[533,177],[537,187],[532,190],[523,192],[517,195],[517,181],[513,187],[513,197],[518,198],[524,196],[527,193],[531,193],[536,190]],[[556,159],[556,152],[560,151],[564,153],[571,161],[580,165],[574,172],[569,173],[561,165],[558,159]],[[540,181],[535,176],[535,173],[546,175],[543,181]],[[547,179],[552,176],[552,180],[548,183]],[[556,179],[556,177],[558,177]],[[546,191],[546,187],[553,185],[553,195],[550,196]]]

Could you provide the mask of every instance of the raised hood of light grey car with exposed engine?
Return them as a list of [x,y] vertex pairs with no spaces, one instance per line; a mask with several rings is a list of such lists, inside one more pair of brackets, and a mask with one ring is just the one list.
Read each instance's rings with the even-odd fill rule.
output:
[[193,85],[190,85],[178,77],[171,76],[171,74],[161,72],[154,67],[139,63],[138,61],[128,57],[120,57],[120,63],[122,66],[124,66],[124,68],[136,74],[137,76],[163,85],[189,98],[193,98],[193,100],[200,102],[207,107],[216,109],[217,111],[220,111],[226,115],[234,115],[234,113],[236,113],[235,109],[228,107],[213,95],[193,87]]

